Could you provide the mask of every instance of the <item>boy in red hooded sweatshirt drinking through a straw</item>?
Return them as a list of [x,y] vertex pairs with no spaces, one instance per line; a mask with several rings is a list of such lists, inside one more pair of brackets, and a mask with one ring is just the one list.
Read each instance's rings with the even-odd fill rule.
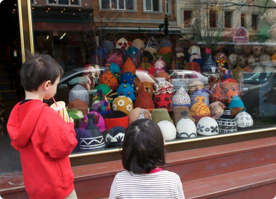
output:
[[30,199],[77,198],[68,157],[77,144],[73,119],[66,123],[43,103],[55,95],[62,75],[48,55],[30,55],[20,71],[26,98],[13,108],[7,129]]

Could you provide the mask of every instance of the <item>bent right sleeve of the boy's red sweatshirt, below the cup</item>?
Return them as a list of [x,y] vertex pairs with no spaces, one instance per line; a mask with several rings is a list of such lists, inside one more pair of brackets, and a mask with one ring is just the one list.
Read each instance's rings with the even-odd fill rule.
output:
[[45,107],[39,119],[41,150],[52,158],[63,158],[77,145],[74,123],[66,123],[52,108]]

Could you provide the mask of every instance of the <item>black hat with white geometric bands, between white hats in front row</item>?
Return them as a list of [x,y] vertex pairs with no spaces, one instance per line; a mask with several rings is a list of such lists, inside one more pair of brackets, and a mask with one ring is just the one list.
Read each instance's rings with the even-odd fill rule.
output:
[[223,114],[217,119],[219,133],[237,132],[235,119],[231,116],[231,110],[226,107]]

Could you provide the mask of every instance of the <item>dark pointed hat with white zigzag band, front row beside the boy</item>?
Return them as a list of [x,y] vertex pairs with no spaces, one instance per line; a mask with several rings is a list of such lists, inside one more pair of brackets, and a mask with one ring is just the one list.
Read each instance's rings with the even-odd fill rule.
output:
[[97,150],[105,148],[104,138],[99,129],[93,123],[94,114],[87,114],[88,124],[81,134],[77,136],[79,138],[79,148],[81,151]]

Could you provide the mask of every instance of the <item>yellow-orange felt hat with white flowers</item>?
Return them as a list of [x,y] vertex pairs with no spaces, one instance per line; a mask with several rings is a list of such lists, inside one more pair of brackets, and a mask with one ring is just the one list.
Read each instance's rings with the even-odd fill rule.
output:
[[113,111],[122,111],[128,115],[133,109],[133,103],[129,97],[118,96],[113,100],[112,108]]

